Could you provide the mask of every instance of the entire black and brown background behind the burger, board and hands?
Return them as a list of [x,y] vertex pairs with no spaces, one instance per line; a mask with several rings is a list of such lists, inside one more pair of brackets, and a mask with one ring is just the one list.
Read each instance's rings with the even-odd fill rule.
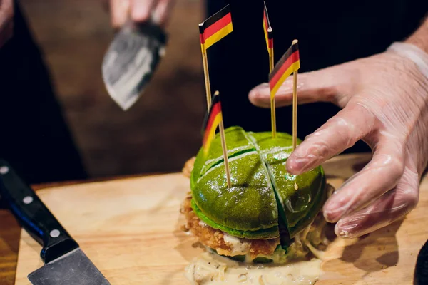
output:
[[[226,1],[210,1],[208,6],[200,0],[176,2],[166,56],[143,97],[123,112],[108,97],[101,78],[103,54],[113,38],[102,1],[19,1],[38,47],[32,48],[34,43],[19,33],[0,50],[0,156],[25,168],[30,182],[86,177],[76,170],[79,157],[88,177],[181,170],[200,147],[206,108],[198,23]],[[226,127],[270,130],[270,110],[248,101],[248,91],[268,76],[263,1],[231,0],[230,7],[233,33],[208,51],[211,90],[220,91]],[[384,51],[419,26],[428,1],[267,0],[267,9],[275,62],[297,38],[301,73]],[[16,28],[23,25],[16,22]],[[48,71],[38,58],[38,48]],[[44,82],[46,73],[57,103],[41,91],[50,90]],[[56,143],[58,137],[67,136],[55,128],[63,122],[50,111],[58,104],[77,152]],[[42,110],[41,115],[34,110]],[[297,135],[305,138],[337,110],[328,103],[300,106]],[[277,130],[291,133],[291,118],[290,107],[279,108]],[[349,151],[367,150],[360,143]]]

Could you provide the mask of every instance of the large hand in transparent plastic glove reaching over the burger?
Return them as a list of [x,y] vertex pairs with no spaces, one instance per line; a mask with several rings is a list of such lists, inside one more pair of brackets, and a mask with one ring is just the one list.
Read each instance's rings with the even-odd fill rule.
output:
[[[360,139],[373,150],[370,163],[323,208],[327,221],[337,222],[336,234],[358,237],[410,212],[428,160],[428,78],[417,65],[389,51],[299,74],[297,88],[300,104],[327,101],[342,110],[292,152],[289,172],[310,170]],[[250,101],[269,108],[269,93],[263,83],[250,91]],[[276,104],[292,104],[292,77],[278,91]]]

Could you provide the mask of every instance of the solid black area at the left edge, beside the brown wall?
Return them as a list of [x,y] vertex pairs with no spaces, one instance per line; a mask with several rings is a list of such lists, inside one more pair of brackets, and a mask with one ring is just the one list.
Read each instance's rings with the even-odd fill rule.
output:
[[14,36],[0,48],[0,157],[29,183],[87,177],[49,71],[19,3]]

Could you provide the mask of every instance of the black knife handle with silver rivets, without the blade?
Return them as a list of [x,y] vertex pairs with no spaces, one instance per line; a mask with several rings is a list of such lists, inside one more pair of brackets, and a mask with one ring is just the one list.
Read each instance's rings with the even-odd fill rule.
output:
[[40,256],[45,264],[78,248],[77,242],[41,202],[36,192],[8,162],[1,159],[0,196],[26,232],[43,247]]

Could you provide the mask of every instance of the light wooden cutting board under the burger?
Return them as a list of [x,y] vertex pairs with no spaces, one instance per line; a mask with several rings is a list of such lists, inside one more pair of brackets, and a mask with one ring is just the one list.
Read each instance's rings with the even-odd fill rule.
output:
[[[335,157],[325,164],[335,187],[367,161],[367,155]],[[180,231],[180,203],[189,190],[182,174],[55,187],[38,192],[113,285],[188,285],[183,269],[201,249]],[[420,200],[404,221],[361,239],[336,239],[322,269],[327,280],[317,285],[412,284],[417,254],[428,239],[428,180]],[[43,264],[41,247],[22,232],[16,284]]]

